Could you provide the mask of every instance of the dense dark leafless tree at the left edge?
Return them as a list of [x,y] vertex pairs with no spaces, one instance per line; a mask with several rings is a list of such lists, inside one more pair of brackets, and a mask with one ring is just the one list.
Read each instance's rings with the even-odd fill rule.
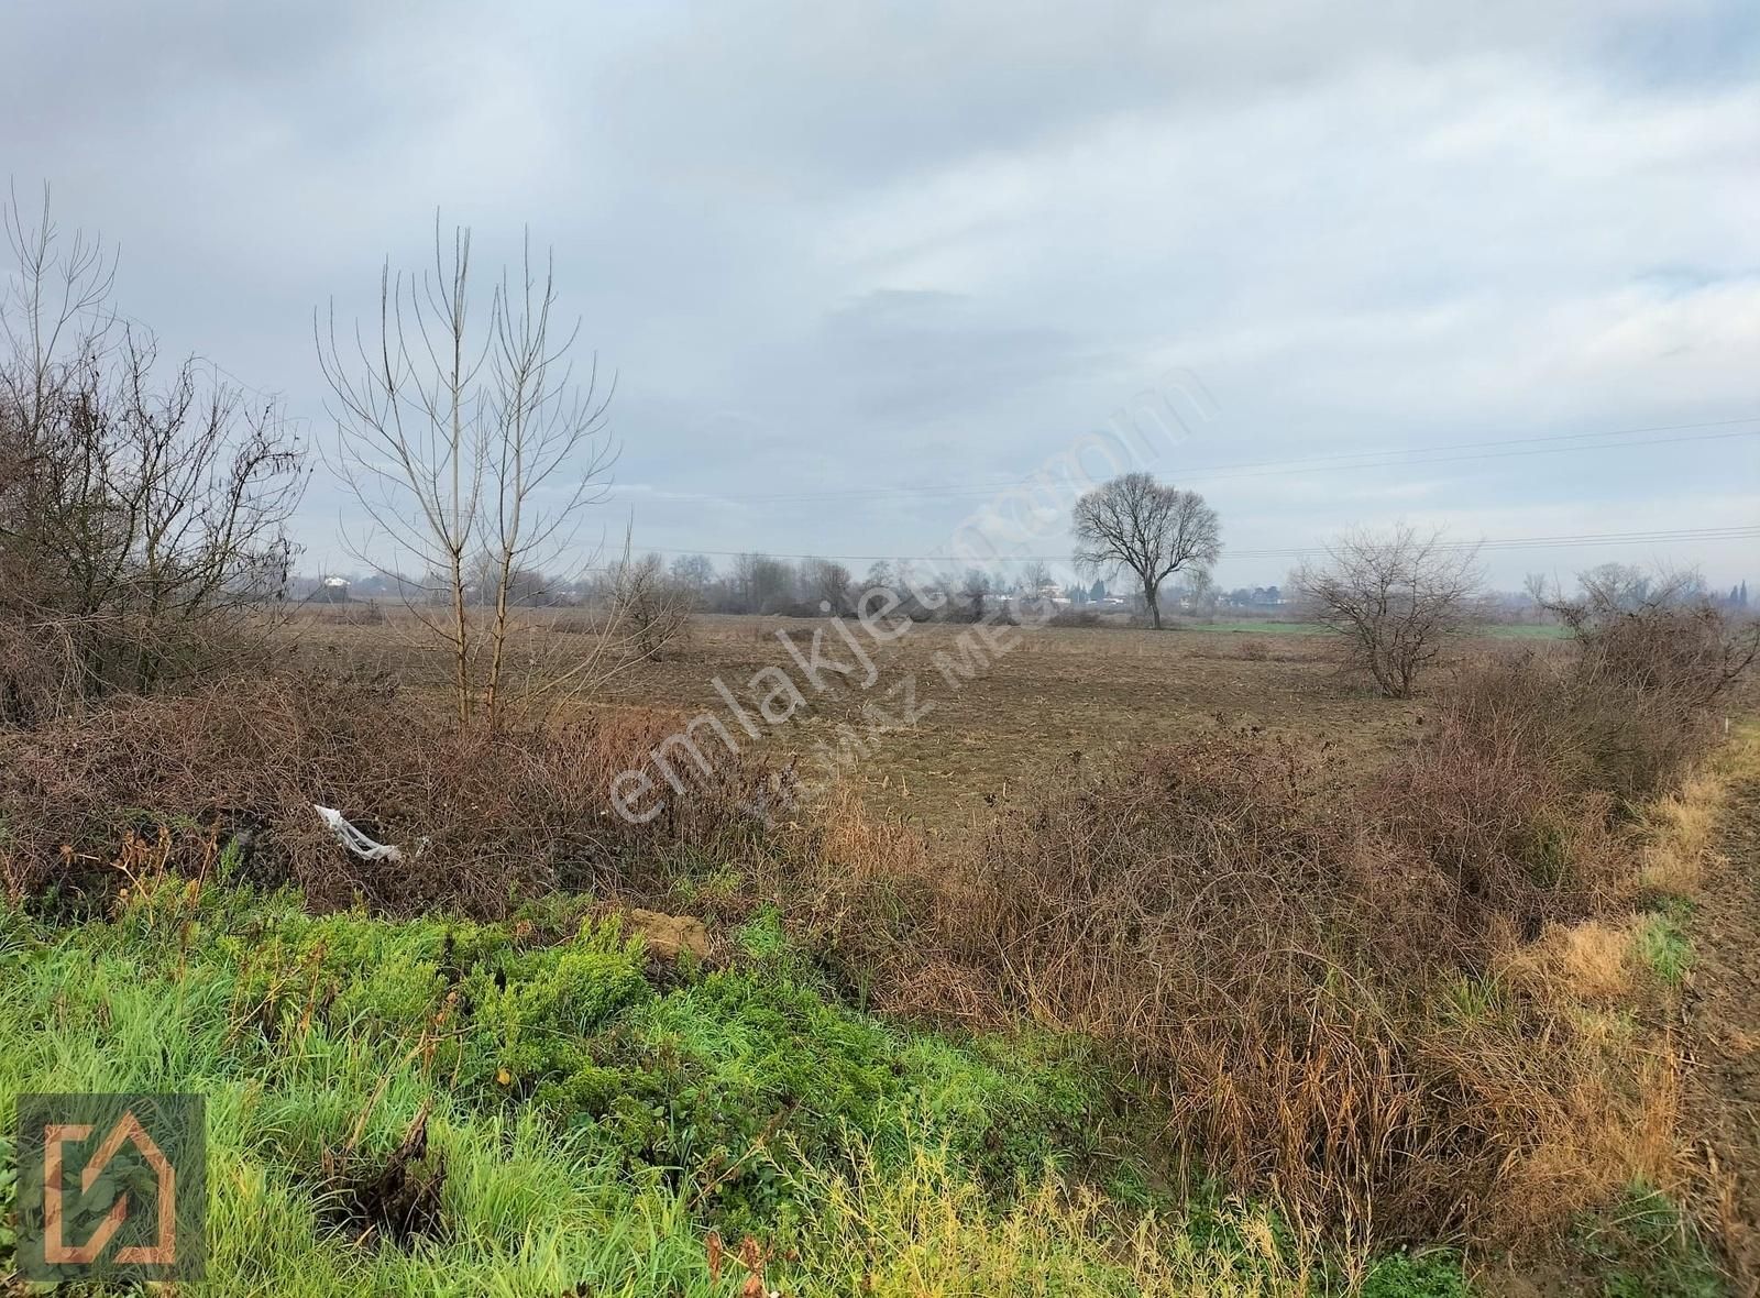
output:
[[260,647],[306,482],[280,406],[194,357],[162,375],[151,332],[111,311],[113,259],[63,241],[48,193],[40,215],[11,197],[5,230],[0,619],[86,698]]

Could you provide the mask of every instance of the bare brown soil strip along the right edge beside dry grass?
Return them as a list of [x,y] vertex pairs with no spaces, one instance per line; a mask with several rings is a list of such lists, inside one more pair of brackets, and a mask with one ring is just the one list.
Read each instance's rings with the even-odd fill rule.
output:
[[1760,1298],[1760,770],[1744,763],[1693,916],[1686,1119],[1737,1298]]

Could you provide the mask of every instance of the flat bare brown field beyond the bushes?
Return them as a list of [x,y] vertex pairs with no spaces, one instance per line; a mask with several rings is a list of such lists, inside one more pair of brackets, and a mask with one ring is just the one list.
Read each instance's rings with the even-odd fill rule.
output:
[[[568,616],[537,619],[539,661],[567,660],[586,631]],[[790,617],[699,616],[685,642],[656,663],[637,663],[595,691],[593,707],[672,707],[716,711],[739,742],[715,681],[736,696],[762,668],[797,679],[806,707],[788,725],[764,730],[753,749],[794,758],[817,770],[840,751],[850,728],[864,728],[862,707],[878,704],[899,721],[864,739],[859,758],[840,765],[843,779],[880,811],[936,828],[982,818],[1010,784],[1058,763],[1107,762],[1119,753],[1221,728],[1258,726],[1271,733],[1327,740],[1343,762],[1383,758],[1422,728],[1424,704],[1389,702],[1343,679],[1331,645],[1301,623],[1225,623],[1204,630],[1037,628],[987,644],[984,667],[963,670],[961,637],[945,623],[913,626],[875,653],[876,681],[822,672],[824,693],[803,677],[778,637],[806,653],[827,623]],[[854,626],[854,623],[852,623]],[[326,617],[296,621],[292,651],[315,665],[348,663],[385,670],[417,689],[440,689],[445,651],[401,619],[350,626]],[[1457,658],[1496,642],[1468,640]],[[869,645],[871,647],[871,645]],[[836,638],[825,654],[854,658]],[[859,665],[857,665],[859,667]],[[968,674],[970,672],[970,674]],[[905,704],[905,682],[913,705]],[[917,714],[906,723],[908,714]],[[845,749],[848,751],[848,749]]]

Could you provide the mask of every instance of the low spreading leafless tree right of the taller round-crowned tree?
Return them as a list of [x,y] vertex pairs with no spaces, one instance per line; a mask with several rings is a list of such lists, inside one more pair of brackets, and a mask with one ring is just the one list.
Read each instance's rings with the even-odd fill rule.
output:
[[1308,616],[1339,635],[1352,667],[1389,698],[1410,698],[1419,674],[1468,619],[1478,591],[1478,547],[1399,524],[1350,531],[1320,566],[1294,575]]

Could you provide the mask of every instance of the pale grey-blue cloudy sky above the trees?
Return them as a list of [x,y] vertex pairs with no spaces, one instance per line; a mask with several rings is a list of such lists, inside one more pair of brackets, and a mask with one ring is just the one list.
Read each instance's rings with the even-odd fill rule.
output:
[[[4,171],[313,438],[315,306],[436,208],[482,262],[530,225],[642,547],[940,554],[1186,375],[1142,468],[1220,508],[1223,586],[1396,519],[1505,586],[1760,579],[1681,536],[1760,524],[1749,0],[14,0],[7,46]],[[320,475],[308,566],[347,515]]]

